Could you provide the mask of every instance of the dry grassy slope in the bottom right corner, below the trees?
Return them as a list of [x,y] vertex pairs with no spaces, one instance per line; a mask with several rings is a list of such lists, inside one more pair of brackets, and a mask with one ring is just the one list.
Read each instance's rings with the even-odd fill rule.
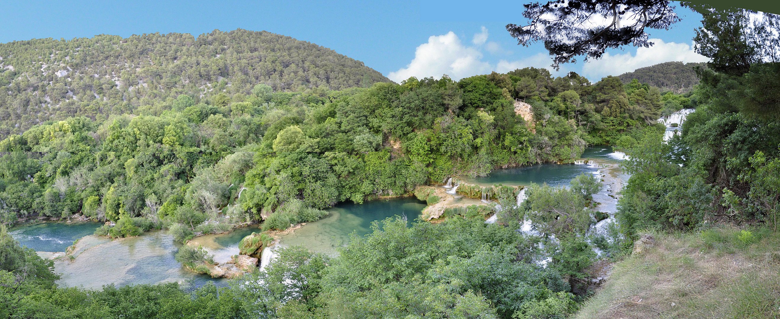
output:
[[780,233],[733,228],[653,233],[615,264],[576,318],[780,317]]

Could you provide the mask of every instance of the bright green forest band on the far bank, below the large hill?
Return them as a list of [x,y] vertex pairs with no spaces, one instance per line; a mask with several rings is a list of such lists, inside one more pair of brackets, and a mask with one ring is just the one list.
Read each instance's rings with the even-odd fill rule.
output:
[[[589,142],[628,146],[631,136],[661,129],[648,126],[661,107],[656,89],[612,77],[590,85],[537,68],[341,91],[234,87],[202,96],[183,86],[125,114],[78,113],[10,135],[0,141],[2,222],[80,214],[115,223],[97,230],[103,236],[168,229],[182,242],[263,219],[263,230],[283,230],[338,202],[576,159]],[[533,122],[515,113],[521,97]],[[501,192],[512,190],[498,186],[488,198]]]

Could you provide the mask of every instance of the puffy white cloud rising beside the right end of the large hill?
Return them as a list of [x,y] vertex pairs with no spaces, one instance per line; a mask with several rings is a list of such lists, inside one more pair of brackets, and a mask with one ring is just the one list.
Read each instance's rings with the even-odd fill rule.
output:
[[[479,33],[478,33],[479,34]],[[441,36],[431,36],[428,42],[420,44],[414,52],[414,59],[398,71],[390,72],[388,78],[401,82],[415,76],[417,79],[449,75],[458,80],[472,75],[492,71],[491,65],[482,61],[482,52],[476,47],[464,46],[458,36],[450,31]]]

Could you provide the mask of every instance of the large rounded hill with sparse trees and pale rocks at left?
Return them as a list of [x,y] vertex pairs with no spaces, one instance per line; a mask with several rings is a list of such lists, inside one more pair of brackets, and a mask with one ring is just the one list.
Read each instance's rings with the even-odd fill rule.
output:
[[15,41],[0,44],[0,137],[49,119],[165,107],[180,94],[211,100],[258,83],[289,91],[375,82],[390,81],[326,47],[265,31]]

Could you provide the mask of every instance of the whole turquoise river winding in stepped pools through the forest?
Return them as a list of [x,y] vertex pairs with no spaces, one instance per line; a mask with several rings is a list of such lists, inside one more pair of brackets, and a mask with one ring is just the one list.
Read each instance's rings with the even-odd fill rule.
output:
[[[599,210],[615,212],[615,193],[623,180],[615,163],[625,158],[625,154],[613,152],[608,146],[594,146],[583,153],[583,159],[595,160],[598,165],[585,164],[541,164],[529,167],[494,170],[487,177],[466,179],[477,184],[508,184],[526,186],[531,182],[547,183],[552,186],[566,186],[578,174],[598,174],[605,178],[605,188],[594,195],[602,202]],[[608,165],[612,168],[605,168]],[[612,179],[610,179],[612,178]],[[402,216],[413,221],[420,216],[425,203],[417,198],[378,199],[363,204],[341,203],[328,209],[329,215],[323,219],[278,236],[280,246],[303,245],[312,251],[324,254],[336,254],[336,248],[349,241],[349,233],[359,236],[371,233],[371,223],[387,217]],[[127,284],[159,282],[191,282],[193,286],[202,286],[206,282],[224,285],[224,279],[212,279],[183,268],[174,255],[180,244],[173,242],[171,235],[163,231],[144,233],[140,237],[108,240],[87,236],[94,232],[100,223],[41,223],[17,226],[10,230],[12,236],[27,247],[36,251],[65,251],[80,240],[76,258],[60,258],[55,261],[55,272],[62,276],[60,286],[83,286],[99,289],[102,285],[113,283],[118,286]],[[238,253],[239,241],[252,232],[259,231],[257,226],[234,230],[232,233],[206,235],[193,240],[215,255],[215,261],[224,262]],[[86,236],[86,237],[85,237]]]

